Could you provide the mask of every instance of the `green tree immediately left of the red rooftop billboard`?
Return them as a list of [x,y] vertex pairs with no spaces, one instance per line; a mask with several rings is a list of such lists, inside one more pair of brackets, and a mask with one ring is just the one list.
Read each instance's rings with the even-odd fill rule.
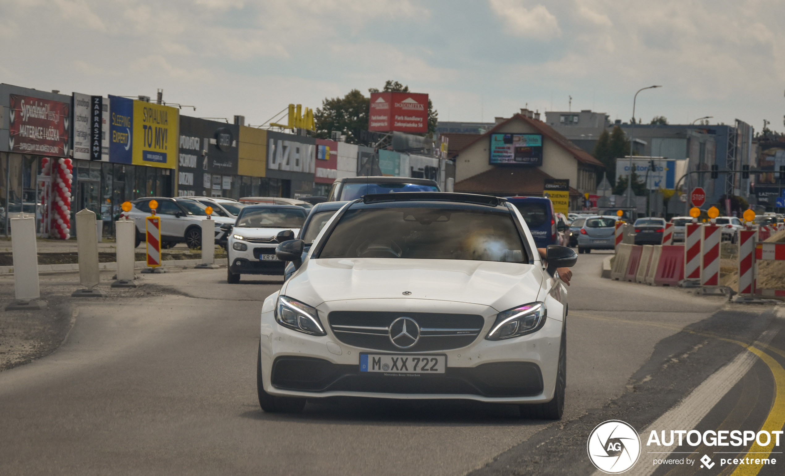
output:
[[368,129],[368,110],[371,100],[360,90],[351,90],[344,97],[325,98],[322,107],[313,113],[316,126],[314,137],[330,138],[330,132],[340,130],[349,144],[360,141],[360,130]]

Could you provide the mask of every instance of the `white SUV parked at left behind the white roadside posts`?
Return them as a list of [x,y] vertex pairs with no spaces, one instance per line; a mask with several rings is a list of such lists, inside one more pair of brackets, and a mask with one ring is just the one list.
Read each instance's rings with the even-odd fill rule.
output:
[[[150,201],[158,202],[155,214],[161,219],[161,247],[173,247],[177,243],[185,243],[189,248],[202,247],[202,221],[207,218],[206,208],[202,203],[188,199],[173,199],[159,196],[148,196],[132,200],[128,216],[137,226],[136,245],[147,240],[144,219],[151,215]],[[215,243],[226,243],[226,232],[221,225],[231,224],[234,218],[211,217],[215,222]]]

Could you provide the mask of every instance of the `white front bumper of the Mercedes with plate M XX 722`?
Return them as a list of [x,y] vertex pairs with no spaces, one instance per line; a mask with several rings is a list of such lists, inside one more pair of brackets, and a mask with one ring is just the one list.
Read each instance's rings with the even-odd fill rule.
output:
[[[318,306],[327,335],[313,336],[279,325],[265,302],[261,315],[261,370],[268,394],[288,397],[378,397],[403,399],[469,399],[498,403],[550,401],[556,384],[562,317],[558,307],[543,327],[514,339],[484,339],[497,311],[489,306],[427,299],[374,299],[376,309],[407,312],[472,313],[484,317],[480,335],[453,350],[423,353],[389,352],[350,346],[334,335],[327,320],[333,309],[367,309],[366,299],[325,302]],[[553,317],[553,313],[557,313]],[[360,372],[360,353],[447,356],[441,375],[385,376]]]

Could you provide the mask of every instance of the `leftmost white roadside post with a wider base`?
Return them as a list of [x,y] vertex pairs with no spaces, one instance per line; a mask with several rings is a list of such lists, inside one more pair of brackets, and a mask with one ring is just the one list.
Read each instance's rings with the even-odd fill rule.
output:
[[16,301],[5,310],[46,309],[38,287],[38,247],[35,243],[35,218],[11,218],[13,285]]

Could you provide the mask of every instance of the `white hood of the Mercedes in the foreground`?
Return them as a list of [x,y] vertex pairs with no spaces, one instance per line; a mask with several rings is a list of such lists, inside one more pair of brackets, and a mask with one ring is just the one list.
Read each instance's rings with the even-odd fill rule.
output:
[[[310,306],[348,299],[470,302],[498,311],[537,300],[537,265],[453,259],[308,259],[282,294]],[[403,295],[410,291],[411,295]]]

